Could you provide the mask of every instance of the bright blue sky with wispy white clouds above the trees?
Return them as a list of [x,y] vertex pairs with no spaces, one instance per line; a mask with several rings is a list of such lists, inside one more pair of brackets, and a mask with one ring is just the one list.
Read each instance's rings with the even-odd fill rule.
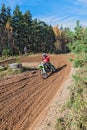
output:
[[32,19],[37,18],[49,25],[74,28],[76,21],[87,27],[87,0],[0,0],[14,10],[19,5],[24,13],[29,10]]

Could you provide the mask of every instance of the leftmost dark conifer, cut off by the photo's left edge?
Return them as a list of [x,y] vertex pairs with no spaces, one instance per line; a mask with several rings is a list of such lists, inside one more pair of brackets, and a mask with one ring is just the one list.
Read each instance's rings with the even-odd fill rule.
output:
[[5,5],[2,5],[1,11],[0,11],[0,48],[3,50],[5,48],[8,48],[8,31],[6,29],[7,23],[10,23],[11,13],[10,13],[10,7],[5,7]]

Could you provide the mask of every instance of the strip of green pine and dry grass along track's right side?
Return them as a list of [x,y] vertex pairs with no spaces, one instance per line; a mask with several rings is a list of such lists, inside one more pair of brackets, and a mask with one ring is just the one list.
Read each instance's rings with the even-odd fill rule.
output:
[[78,71],[76,75],[73,75],[74,83],[70,87],[70,97],[57,120],[56,130],[87,129],[87,44],[85,41],[87,39],[85,31],[86,29],[83,31],[77,21],[73,41],[69,48],[75,55],[73,63]]

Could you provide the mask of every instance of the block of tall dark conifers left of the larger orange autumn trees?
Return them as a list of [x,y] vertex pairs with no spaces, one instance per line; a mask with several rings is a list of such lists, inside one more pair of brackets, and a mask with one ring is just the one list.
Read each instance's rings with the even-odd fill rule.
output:
[[45,22],[34,19],[30,11],[24,14],[17,5],[11,15],[10,7],[4,4],[0,9],[0,52],[5,48],[12,54],[23,54],[26,46],[29,53],[55,50],[53,28]]

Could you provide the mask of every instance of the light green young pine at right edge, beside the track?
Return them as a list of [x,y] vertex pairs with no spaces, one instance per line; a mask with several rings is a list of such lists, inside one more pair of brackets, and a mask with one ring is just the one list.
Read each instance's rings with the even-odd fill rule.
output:
[[81,67],[87,62],[87,28],[82,28],[79,21],[76,23],[73,42],[69,44],[69,48],[76,55],[74,61],[76,67]]

